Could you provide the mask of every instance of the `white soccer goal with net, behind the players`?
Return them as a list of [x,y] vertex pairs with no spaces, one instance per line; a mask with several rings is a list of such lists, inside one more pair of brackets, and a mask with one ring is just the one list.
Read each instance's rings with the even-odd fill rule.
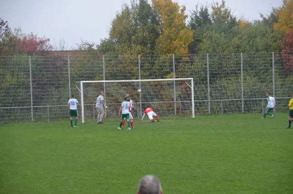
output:
[[[141,91],[140,91],[141,90]],[[107,118],[118,118],[119,108],[126,94],[135,109],[133,117],[141,117],[146,104],[159,116],[194,118],[193,78],[80,81],[82,123],[96,117],[96,99],[104,92]]]

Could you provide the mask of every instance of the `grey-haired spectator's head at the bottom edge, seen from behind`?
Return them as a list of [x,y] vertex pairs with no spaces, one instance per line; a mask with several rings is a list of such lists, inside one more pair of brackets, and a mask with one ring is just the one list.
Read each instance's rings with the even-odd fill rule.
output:
[[160,180],[154,175],[146,175],[141,178],[137,194],[163,194]]

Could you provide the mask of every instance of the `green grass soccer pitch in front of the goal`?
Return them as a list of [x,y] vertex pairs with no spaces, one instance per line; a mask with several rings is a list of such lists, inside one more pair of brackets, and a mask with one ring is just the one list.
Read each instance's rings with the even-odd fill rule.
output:
[[261,117],[0,124],[0,193],[134,194],[147,174],[165,194],[293,193],[288,116]]

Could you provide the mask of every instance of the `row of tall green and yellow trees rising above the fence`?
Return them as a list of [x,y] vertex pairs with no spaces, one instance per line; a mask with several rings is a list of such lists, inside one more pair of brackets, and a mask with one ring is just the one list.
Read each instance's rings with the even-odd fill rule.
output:
[[[98,51],[124,55],[280,51],[282,35],[277,29],[290,21],[283,16],[293,13],[293,1],[284,0],[283,7],[272,8],[268,16],[261,15],[261,20],[237,20],[222,0],[197,4],[187,25],[185,6],[173,0],[151,2],[132,0],[124,5]],[[284,21],[279,19],[282,17]]]

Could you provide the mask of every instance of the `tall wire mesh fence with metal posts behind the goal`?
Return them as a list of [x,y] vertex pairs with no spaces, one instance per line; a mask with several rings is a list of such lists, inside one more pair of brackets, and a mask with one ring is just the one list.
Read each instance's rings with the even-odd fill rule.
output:
[[[161,78],[193,78],[196,115],[262,113],[267,92],[276,98],[275,110],[284,112],[293,93],[293,53],[0,57],[0,122],[67,118],[68,98],[76,94],[80,99],[79,81]],[[185,87],[169,87],[166,103],[158,105],[167,110],[162,116],[191,116],[182,105],[187,99],[180,96]],[[114,118],[110,111],[115,112],[129,91],[105,83],[96,90],[97,96],[100,90],[106,93],[106,103],[113,105],[107,116]],[[162,94],[152,94],[152,99],[162,99]],[[142,103],[152,103],[147,100]],[[95,117],[95,101],[93,97],[84,102],[89,109],[85,118]],[[171,104],[176,104],[174,109]]]

